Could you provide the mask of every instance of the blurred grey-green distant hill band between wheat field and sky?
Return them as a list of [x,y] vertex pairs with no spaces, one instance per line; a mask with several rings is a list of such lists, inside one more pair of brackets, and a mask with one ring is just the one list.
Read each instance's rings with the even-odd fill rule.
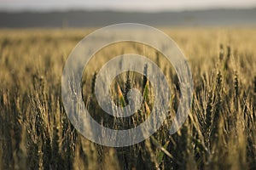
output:
[[0,12],[0,27],[85,27],[135,22],[149,26],[256,26],[256,8],[183,12]]

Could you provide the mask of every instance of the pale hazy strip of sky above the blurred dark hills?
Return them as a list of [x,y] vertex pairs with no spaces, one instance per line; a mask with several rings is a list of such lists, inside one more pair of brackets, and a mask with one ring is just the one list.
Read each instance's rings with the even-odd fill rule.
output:
[[204,8],[255,8],[256,0],[0,0],[8,11],[52,11],[67,9],[161,11]]

